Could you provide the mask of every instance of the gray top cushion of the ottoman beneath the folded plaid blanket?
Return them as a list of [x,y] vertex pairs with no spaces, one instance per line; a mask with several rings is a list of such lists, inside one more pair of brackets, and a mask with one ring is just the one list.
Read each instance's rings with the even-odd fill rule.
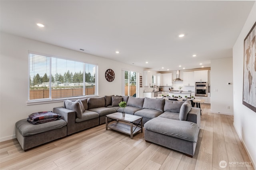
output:
[[15,126],[19,130],[22,136],[31,136],[34,134],[47,132],[49,130],[54,130],[66,126],[67,123],[63,119],[58,119],[57,121],[52,121],[48,123],[42,123],[38,125],[32,125],[28,123],[27,119],[22,119],[16,122]]

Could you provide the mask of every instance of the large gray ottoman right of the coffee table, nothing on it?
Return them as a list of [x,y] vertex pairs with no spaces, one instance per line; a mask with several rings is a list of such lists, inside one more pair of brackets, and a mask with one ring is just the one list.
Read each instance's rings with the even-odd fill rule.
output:
[[156,117],[144,124],[145,140],[192,157],[200,128],[196,123]]

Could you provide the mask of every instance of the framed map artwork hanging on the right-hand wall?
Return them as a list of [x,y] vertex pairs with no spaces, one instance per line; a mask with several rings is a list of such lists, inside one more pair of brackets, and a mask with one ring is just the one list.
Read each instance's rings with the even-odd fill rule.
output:
[[256,22],[244,39],[243,105],[256,112]]

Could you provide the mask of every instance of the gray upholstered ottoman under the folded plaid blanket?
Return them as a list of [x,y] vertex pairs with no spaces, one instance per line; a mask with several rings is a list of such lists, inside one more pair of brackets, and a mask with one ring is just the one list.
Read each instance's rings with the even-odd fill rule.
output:
[[27,119],[16,123],[16,138],[24,151],[67,136],[67,123],[63,119],[32,125]]

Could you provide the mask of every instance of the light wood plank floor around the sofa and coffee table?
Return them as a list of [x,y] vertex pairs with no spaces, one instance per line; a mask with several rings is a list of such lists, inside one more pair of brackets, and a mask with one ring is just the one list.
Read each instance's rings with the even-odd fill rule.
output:
[[[210,113],[202,105],[201,129],[193,158],[180,152],[145,142],[144,133],[134,136],[105,125],[24,152],[16,139],[0,143],[0,169],[58,170],[217,170],[221,160],[250,162],[236,130],[233,116]],[[246,169],[227,166],[225,169]],[[247,169],[254,169],[252,166]]]

